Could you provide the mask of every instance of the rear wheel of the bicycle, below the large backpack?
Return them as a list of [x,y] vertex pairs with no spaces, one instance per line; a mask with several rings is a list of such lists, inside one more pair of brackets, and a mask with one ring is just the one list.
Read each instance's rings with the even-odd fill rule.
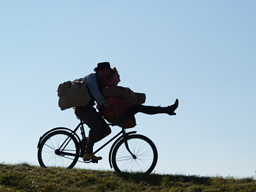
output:
[[54,131],[38,147],[38,161],[42,167],[73,168],[79,158],[79,143],[67,131]]

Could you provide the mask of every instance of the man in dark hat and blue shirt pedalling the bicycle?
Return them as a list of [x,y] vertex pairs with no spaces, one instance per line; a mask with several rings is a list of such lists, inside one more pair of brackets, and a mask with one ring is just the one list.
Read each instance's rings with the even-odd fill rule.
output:
[[88,76],[84,77],[84,80],[86,80],[88,84],[89,93],[92,95],[92,101],[86,107],[75,108],[76,116],[90,127],[84,161],[89,161],[90,159],[102,159],[102,157],[96,157],[93,154],[93,145],[111,133],[111,129],[106,124],[106,121],[99,115],[99,113],[97,113],[96,109],[93,108],[93,106],[95,106],[95,101],[99,106],[111,108],[111,105],[100,93],[100,90],[102,89],[100,86],[100,79],[106,77],[111,71],[109,62],[98,63],[97,67],[94,68],[94,71],[95,73],[88,74]]

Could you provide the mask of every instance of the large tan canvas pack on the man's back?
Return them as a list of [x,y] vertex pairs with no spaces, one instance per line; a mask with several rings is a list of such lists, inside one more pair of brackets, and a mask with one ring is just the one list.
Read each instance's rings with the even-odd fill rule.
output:
[[87,106],[92,100],[84,79],[61,83],[58,87],[58,96],[61,110]]

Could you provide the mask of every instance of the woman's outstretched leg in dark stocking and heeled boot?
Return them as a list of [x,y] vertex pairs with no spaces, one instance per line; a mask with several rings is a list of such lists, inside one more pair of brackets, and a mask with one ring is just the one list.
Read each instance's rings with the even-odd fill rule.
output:
[[175,109],[177,109],[179,106],[179,100],[176,99],[175,103],[172,104],[171,106],[166,106],[166,107],[155,107],[155,106],[143,106],[139,104],[134,104],[131,106],[131,108],[127,109],[124,114],[115,120],[115,122],[112,123],[112,125],[118,125],[119,127],[125,127],[125,122],[124,120],[126,118],[130,118],[134,116],[136,113],[145,113],[148,115],[155,115],[159,113],[166,113],[168,115],[176,115],[174,113]]

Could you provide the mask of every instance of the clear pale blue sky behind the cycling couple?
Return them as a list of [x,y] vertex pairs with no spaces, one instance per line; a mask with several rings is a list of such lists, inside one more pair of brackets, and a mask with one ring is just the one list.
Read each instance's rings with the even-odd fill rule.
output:
[[[156,173],[256,175],[256,1],[10,0],[0,8],[0,162],[37,165],[40,136],[79,123],[58,107],[58,85],[109,61],[120,86],[146,93],[145,104],[180,100],[177,116],[136,115],[134,130],[157,146]],[[108,170],[109,148],[99,164],[77,166]]]

